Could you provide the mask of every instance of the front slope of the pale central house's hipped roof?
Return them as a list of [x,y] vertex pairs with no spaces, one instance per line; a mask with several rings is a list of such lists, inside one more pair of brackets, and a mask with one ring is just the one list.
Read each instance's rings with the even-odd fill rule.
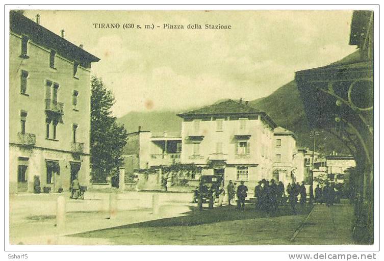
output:
[[237,114],[237,113],[260,113],[261,111],[255,109],[245,103],[240,103],[231,99],[227,99],[210,106],[201,107],[196,110],[177,114],[183,115],[201,115],[201,114]]

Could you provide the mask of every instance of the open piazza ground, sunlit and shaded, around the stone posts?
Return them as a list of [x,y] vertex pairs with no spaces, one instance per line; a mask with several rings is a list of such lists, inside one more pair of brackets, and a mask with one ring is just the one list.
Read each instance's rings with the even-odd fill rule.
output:
[[[159,209],[152,214],[152,196]],[[63,245],[289,245],[352,244],[352,206],[280,206],[278,211],[245,211],[235,206],[198,211],[190,193],[118,194],[116,216],[108,212],[109,193],[87,192],[66,200],[65,228],[56,227],[56,200],[63,194],[13,194],[11,244]],[[312,210],[312,212],[311,212]],[[310,214],[311,213],[311,214]],[[310,214],[310,215],[308,215]]]

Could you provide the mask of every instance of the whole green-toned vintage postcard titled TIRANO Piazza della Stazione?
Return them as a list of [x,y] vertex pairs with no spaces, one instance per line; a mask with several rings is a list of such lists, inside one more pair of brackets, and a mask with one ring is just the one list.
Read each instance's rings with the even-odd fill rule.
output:
[[9,245],[378,243],[374,8],[8,8]]

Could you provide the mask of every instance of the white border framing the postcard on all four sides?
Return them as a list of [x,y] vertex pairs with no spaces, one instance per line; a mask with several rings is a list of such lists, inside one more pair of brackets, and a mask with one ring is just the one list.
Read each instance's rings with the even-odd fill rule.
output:
[[[27,1],[22,1],[27,2]],[[43,1],[48,2],[48,1]],[[196,2],[203,2],[203,1],[196,1]],[[332,1],[324,1],[324,3],[332,3]],[[27,2],[30,3],[30,2]],[[76,3],[75,1],[67,1],[67,3]],[[301,5],[301,6],[6,6],[5,7],[5,126],[4,126],[4,137],[5,137],[5,193],[6,195],[9,195],[9,176],[7,173],[9,173],[9,149],[8,149],[8,143],[9,143],[9,93],[8,93],[8,86],[9,86],[9,34],[8,32],[8,26],[9,26],[9,10],[10,9],[56,9],[56,10],[277,10],[277,9],[290,9],[290,10],[306,10],[306,9],[321,9],[321,10],[363,10],[363,9],[369,9],[374,10],[375,19],[374,19],[374,44],[375,44],[375,53],[374,53],[374,68],[375,68],[375,77],[374,77],[374,85],[375,85],[375,115],[374,115],[374,139],[375,139],[375,146],[374,146],[374,162],[376,163],[374,165],[374,176],[375,176],[375,182],[374,182],[374,194],[375,194],[375,202],[378,202],[378,192],[379,192],[379,182],[377,180],[378,176],[378,168],[379,168],[379,146],[378,146],[378,138],[379,138],[379,113],[377,111],[378,107],[378,78],[379,78],[379,45],[378,45],[378,39],[379,39],[379,9],[378,6],[310,6],[310,5]],[[4,121],[2,121],[4,122]],[[2,202],[3,204],[3,202]],[[7,209],[9,206],[9,197],[6,197],[6,205]],[[4,209],[4,208],[2,208]],[[25,251],[25,250],[59,250],[59,251],[85,251],[85,250],[103,250],[103,251],[126,251],[126,250],[138,250],[138,251],[164,251],[164,250],[176,250],[176,251],[183,251],[183,250],[221,250],[221,251],[239,251],[239,250],[246,250],[246,251],[274,251],[274,252],[268,252],[267,254],[263,255],[264,258],[270,258],[271,256],[280,256],[279,259],[283,260],[282,258],[288,260],[288,256],[285,252],[276,252],[278,250],[283,251],[289,251],[292,253],[292,251],[318,251],[318,252],[329,252],[329,251],[375,251],[378,250],[378,240],[379,240],[379,231],[378,231],[378,204],[375,205],[375,213],[374,213],[374,227],[375,229],[375,235],[374,235],[374,245],[372,246],[32,246],[32,245],[9,245],[9,215],[8,212],[6,214],[5,219],[5,234],[6,236],[6,250],[10,251]],[[3,215],[2,215],[3,220]],[[48,252],[45,253],[39,253],[39,255],[36,255],[35,253],[29,253],[31,257],[39,257],[43,258],[41,255],[50,256],[50,258],[54,258],[56,260],[64,260],[68,258],[73,258],[74,253],[70,252],[63,252],[58,254],[48,254]],[[94,256],[94,253],[76,253],[76,255],[79,254],[82,256],[82,258],[89,258],[90,255]],[[115,253],[119,254],[119,253]],[[248,256],[248,254],[244,253],[245,256]],[[313,252],[314,254],[314,252]],[[108,252],[97,252],[95,255],[97,255],[97,258],[103,258],[103,259],[109,259],[110,253]],[[146,254],[143,252],[140,253],[140,258],[143,258]],[[199,254],[188,256],[181,253],[181,256],[178,257],[178,254],[168,254],[168,259],[173,259],[171,257],[178,257],[178,259],[192,259],[196,260],[196,258],[200,258]],[[233,253],[225,253],[225,257],[228,259],[232,258],[238,258],[239,255],[242,255],[240,253],[237,253],[236,256],[233,255]],[[247,258],[257,258],[259,259],[262,257],[259,254],[253,254],[249,253],[250,256]],[[133,257],[130,253],[121,253],[121,257],[124,259],[128,259],[127,257]],[[205,255],[205,253],[202,253],[201,258],[207,258],[208,256]],[[7,257],[6,257],[7,258]],[[145,257],[144,257],[145,258]],[[152,256],[153,258],[153,256]],[[157,257],[159,258],[159,257]],[[204,258],[204,259],[205,259]],[[215,255],[210,258],[215,258]],[[34,258],[33,258],[34,259]]]

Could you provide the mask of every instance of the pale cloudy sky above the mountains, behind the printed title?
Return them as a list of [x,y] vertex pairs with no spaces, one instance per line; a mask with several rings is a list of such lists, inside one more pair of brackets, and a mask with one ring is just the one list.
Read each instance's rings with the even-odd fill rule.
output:
[[[53,11],[24,15],[100,58],[92,73],[115,95],[113,113],[181,112],[224,98],[253,100],[295,71],[353,53],[352,11]],[[96,28],[95,24],[96,23]],[[99,23],[118,23],[101,29]],[[133,23],[134,29],[123,29]],[[164,23],[185,29],[163,29]],[[229,30],[204,25],[231,25]],[[144,25],[154,29],[144,29]],[[187,29],[200,24],[202,29]],[[142,29],[137,29],[140,25]],[[159,26],[160,28],[158,28]]]

